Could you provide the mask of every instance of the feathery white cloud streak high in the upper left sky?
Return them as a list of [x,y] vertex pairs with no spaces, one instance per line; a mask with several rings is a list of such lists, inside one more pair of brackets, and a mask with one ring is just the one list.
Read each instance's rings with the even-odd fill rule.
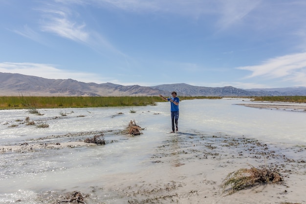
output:
[[[47,5],[45,8],[36,9],[41,12],[40,25],[43,32],[56,34],[77,43],[86,45],[105,55],[115,53],[127,57],[109,40],[94,28],[87,27],[86,20],[81,13],[71,9],[69,3],[82,4],[81,0],[60,1],[63,4]],[[88,3],[88,2],[84,2]]]

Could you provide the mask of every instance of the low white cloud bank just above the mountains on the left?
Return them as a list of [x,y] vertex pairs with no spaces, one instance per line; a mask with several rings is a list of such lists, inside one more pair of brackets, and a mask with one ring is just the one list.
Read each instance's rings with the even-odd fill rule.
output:
[[38,76],[47,79],[74,79],[80,82],[106,83],[113,79],[102,78],[97,73],[77,72],[55,68],[54,65],[38,63],[0,63],[0,72],[20,73],[30,76]]

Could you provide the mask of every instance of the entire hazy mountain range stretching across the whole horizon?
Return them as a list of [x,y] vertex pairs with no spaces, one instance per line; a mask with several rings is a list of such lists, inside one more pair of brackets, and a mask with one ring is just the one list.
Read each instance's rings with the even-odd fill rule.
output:
[[235,87],[199,87],[184,83],[152,87],[123,86],[112,83],[84,83],[73,79],[46,79],[17,73],[0,72],[0,96],[292,96],[306,95],[306,87],[275,89],[238,89]]

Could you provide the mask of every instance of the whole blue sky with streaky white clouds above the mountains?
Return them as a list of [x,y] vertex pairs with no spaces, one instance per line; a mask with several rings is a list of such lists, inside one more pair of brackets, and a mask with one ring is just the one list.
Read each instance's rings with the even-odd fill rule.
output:
[[0,72],[306,87],[305,0],[0,0]]

